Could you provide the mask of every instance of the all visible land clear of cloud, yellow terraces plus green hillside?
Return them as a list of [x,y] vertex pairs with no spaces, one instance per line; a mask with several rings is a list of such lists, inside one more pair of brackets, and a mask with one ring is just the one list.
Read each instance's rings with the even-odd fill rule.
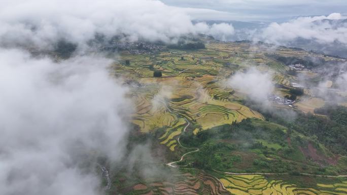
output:
[[[344,178],[317,176],[347,173],[345,107],[316,109],[321,115],[302,113],[296,103],[289,107],[270,102],[264,109],[228,86],[230,76],[257,67],[273,72],[276,95],[300,103],[310,91],[295,89],[291,83],[299,75],[319,81],[320,74],[291,70],[286,64],[316,67],[311,64],[314,58],[307,58],[314,54],[280,47],[275,55],[268,55],[262,52],[266,44],[247,41],[209,40],[206,46],[199,42],[168,46],[153,55],[123,52],[125,64],[112,66],[114,75],[126,78],[129,97],[135,102],[130,143],[150,143],[151,154],[159,159],[152,166],[165,170],[146,177],[140,174],[142,167],[133,175],[122,170],[113,178],[115,191],[345,195],[340,186]],[[336,59],[324,57],[329,60]],[[176,163],[165,166],[169,162]]]

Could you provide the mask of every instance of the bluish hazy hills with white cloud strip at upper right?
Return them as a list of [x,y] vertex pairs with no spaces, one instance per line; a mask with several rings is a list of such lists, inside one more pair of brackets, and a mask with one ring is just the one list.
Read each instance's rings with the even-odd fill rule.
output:
[[[335,19],[329,19],[329,17],[300,16],[279,23],[223,20],[205,22],[207,24],[227,23],[233,26],[233,35],[223,41],[262,41],[347,57],[345,46],[347,19],[343,16],[337,16]],[[317,31],[320,31],[321,35],[315,35],[314,32]]]

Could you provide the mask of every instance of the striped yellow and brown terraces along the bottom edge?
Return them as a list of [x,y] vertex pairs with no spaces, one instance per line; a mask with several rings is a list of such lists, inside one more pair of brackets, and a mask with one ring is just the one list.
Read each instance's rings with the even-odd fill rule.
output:
[[171,180],[137,183],[131,194],[235,194],[235,195],[346,195],[347,179],[299,187],[264,175],[225,175],[217,179],[203,171],[172,175]]

